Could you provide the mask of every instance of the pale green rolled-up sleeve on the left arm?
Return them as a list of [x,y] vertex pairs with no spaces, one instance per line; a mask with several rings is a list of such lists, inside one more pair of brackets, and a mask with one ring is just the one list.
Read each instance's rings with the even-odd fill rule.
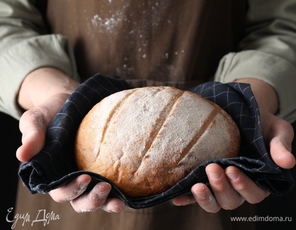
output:
[[35,1],[0,1],[0,111],[19,119],[16,96],[23,79],[40,67],[55,67],[79,81],[67,38],[46,34]]

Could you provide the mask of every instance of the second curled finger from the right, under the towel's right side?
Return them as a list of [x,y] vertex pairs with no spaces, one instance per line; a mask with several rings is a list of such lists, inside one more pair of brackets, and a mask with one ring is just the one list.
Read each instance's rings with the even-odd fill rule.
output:
[[[206,167],[210,187],[213,195],[221,208],[234,210],[244,202],[244,198],[230,185],[223,168],[217,164],[209,164]],[[206,207],[203,207],[206,209]]]

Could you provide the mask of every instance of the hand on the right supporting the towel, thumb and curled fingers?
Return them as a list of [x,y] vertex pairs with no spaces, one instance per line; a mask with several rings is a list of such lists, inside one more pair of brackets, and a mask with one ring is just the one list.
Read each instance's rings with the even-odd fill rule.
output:
[[[267,143],[270,157],[284,169],[294,167],[295,157],[291,153],[293,128],[288,122],[274,116],[273,113],[277,111],[278,106],[268,104],[270,101],[277,102],[277,98],[274,98],[273,88],[255,79],[245,79],[242,82],[251,84],[257,99],[263,137]],[[196,183],[191,188],[192,195],[177,197],[173,199],[173,203],[187,205],[197,202],[204,210],[216,213],[220,209],[236,209],[244,201],[258,203],[269,195],[267,191],[258,187],[254,181],[236,167],[230,166],[223,170],[217,164],[209,164],[206,167],[206,173],[213,193],[205,184]]]

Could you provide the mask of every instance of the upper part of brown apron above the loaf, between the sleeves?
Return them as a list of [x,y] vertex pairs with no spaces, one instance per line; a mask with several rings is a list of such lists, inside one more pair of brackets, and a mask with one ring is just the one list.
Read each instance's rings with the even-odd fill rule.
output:
[[66,35],[83,80],[117,75],[134,87],[208,81],[235,50],[244,1],[48,0],[52,33]]

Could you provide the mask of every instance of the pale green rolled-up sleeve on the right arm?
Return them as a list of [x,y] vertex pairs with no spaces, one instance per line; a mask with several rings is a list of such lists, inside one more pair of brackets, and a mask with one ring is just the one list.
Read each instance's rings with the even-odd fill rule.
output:
[[277,91],[278,116],[296,121],[296,1],[250,0],[238,51],[221,59],[215,80],[256,78]]

